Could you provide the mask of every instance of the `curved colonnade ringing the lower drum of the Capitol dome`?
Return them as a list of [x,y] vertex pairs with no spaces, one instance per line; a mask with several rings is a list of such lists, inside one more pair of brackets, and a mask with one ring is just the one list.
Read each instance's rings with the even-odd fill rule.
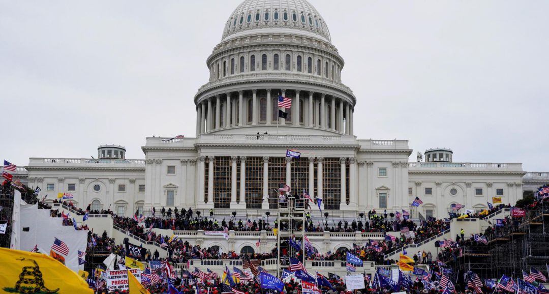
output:
[[[197,136],[227,127],[272,124],[320,127],[354,134],[354,106],[346,99],[312,91],[275,91],[254,89],[202,99],[197,104]],[[278,95],[291,98],[292,107],[278,108],[275,100]],[[278,109],[287,112],[288,119],[279,119]]]

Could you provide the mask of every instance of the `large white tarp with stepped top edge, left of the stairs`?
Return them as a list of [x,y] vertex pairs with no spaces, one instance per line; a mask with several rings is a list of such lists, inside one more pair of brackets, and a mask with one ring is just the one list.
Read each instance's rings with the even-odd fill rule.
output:
[[[77,273],[78,251],[86,251],[88,231],[77,231],[73,226],[63,226],[62,218],[52,218],[49,209],[38,209],[37,204],[21,205],[20,215],[20,225],[17,230],[20,236],[20,249],[32,251],[38,244],[38,248],[41,248],[44,254],[49,254],[54,238],[57,237],[69,247],[68,256],[61,254],[65,258],[66,266]],[[24,228],[29,230],[23,231]]]

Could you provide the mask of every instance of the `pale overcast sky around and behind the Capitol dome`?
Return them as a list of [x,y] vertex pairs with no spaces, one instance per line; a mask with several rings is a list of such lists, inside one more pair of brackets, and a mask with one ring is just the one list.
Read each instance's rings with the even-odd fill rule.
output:
[[[240,0],[0,0],[0,160],[195,135],[206,57]],[[549,170],[549,1],[311,0],[345,59],[358,138]]]

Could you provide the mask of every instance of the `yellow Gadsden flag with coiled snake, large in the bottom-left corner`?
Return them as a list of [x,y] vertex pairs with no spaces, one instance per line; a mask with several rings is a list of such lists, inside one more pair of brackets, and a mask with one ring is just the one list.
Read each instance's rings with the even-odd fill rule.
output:
[[0,264],[0,293],[93,294],[78,274],[46,254],[0,248]]

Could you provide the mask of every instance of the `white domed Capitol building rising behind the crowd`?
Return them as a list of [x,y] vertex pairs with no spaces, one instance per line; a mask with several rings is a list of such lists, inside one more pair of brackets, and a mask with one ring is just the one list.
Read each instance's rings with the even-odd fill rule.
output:
[[[341,80],[344,59],[305,0],[245,0],[221,29],[193,99],[196,134],[147,137],[144,159],[126,159],[116,145],[99,146],[97,158],[31,157],[14,176],[47,202],[71,193],[78,207],[119,215],[192,207],[252,219],[277,207],[281,184],[321,198],[318,215],[406,209],[444,218],[453,203],[476,211],[492,197],[515,203],[547,179],[520,163],[453,162],[448,148],[416,160],[405,138],[357,138],[365,97]],[[279,107],[279,96],[291,107]],[[301,157],[285,157],[287,149]],[[410,207],[416,197],[423,204]]]

